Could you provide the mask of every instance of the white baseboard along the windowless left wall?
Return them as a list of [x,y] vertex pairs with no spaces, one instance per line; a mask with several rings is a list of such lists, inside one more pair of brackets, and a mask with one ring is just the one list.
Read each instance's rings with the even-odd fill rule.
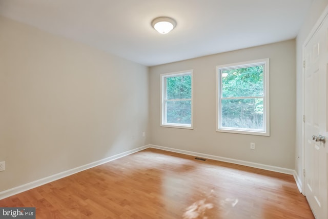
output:
[[69,176],[69,175],[72,175],[72,174],[75,174],[75,173],[90,169],[92,167],[99,166],[101,164],[105,164],[105,163],[110,162],[110,161],[114,161],[114,160],[116,160],[120,157],[130,155],[132,153],[144,150],[146,148],[149,148],[149,145],[145,145],[145,146],[142,146],[142,147],[139,147],[139,148],[136,148],[136,149],[132,149],[132,150],[129,150],[129,151],[126,151],[126,152],[122,152],[122,153],[119,153],[119,154],[116,154],[116,155],[101,159],[99,161],[95,161],[95,162],[92,162],[92,163],[89,163],[89,164],[86,164],[86,165],[83,165],[83,166],[79,166],[79,167],[76,167],[76,168],[73,168],[73,169],[70,169],[70,170],[66,170],[64,172],[56,173],[54,175],[47,176],[45,178],[40,178],[39,180],[36,180],[36,181],[30,182],[30,183],[27,183],[27,184],[24,184],[24,185],[20,185],[20,186],[17,186],[17,187],[2,191],[2,192],[0,192],[0,200],[4,199],[6,197],[9,197],[9,196],[18,194],[20,192],[24,192],[24,191],[27,191],[29,189],[33,189],[35,187],[42,186],[42,185],[47,184],[47,183],[51,183],[53,181],[59,180],[60,178],[64,178],[66,176]]

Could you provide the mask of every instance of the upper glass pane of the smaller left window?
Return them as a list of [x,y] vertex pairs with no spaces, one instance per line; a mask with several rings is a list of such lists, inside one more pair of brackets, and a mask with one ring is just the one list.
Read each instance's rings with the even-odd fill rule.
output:
[[191,98],[191,75],[166,78],[167,99]]

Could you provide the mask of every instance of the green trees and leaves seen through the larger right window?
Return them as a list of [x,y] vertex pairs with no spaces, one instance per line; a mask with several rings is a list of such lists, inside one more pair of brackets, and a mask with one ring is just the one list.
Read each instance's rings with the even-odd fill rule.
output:
[[264,65],[221,71],[221,126],[263,128]]

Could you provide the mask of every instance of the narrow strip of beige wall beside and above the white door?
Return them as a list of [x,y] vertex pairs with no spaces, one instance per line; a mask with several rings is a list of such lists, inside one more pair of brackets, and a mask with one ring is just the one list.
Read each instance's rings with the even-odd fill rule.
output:
[[295,169],[299,177],[303,177],[303,146],[302,146],[302,121],[303,121],[303,44],[313,29],[321,13],[327,7],[327,0],[314,0],[310,13],[306,17],[301,30],[296,38],[296,161]]

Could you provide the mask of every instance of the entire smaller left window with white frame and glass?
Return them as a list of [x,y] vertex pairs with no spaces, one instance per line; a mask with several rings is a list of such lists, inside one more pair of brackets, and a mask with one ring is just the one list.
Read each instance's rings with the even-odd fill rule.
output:
[[193,71],[161,74],[161,126],[193,128]]

